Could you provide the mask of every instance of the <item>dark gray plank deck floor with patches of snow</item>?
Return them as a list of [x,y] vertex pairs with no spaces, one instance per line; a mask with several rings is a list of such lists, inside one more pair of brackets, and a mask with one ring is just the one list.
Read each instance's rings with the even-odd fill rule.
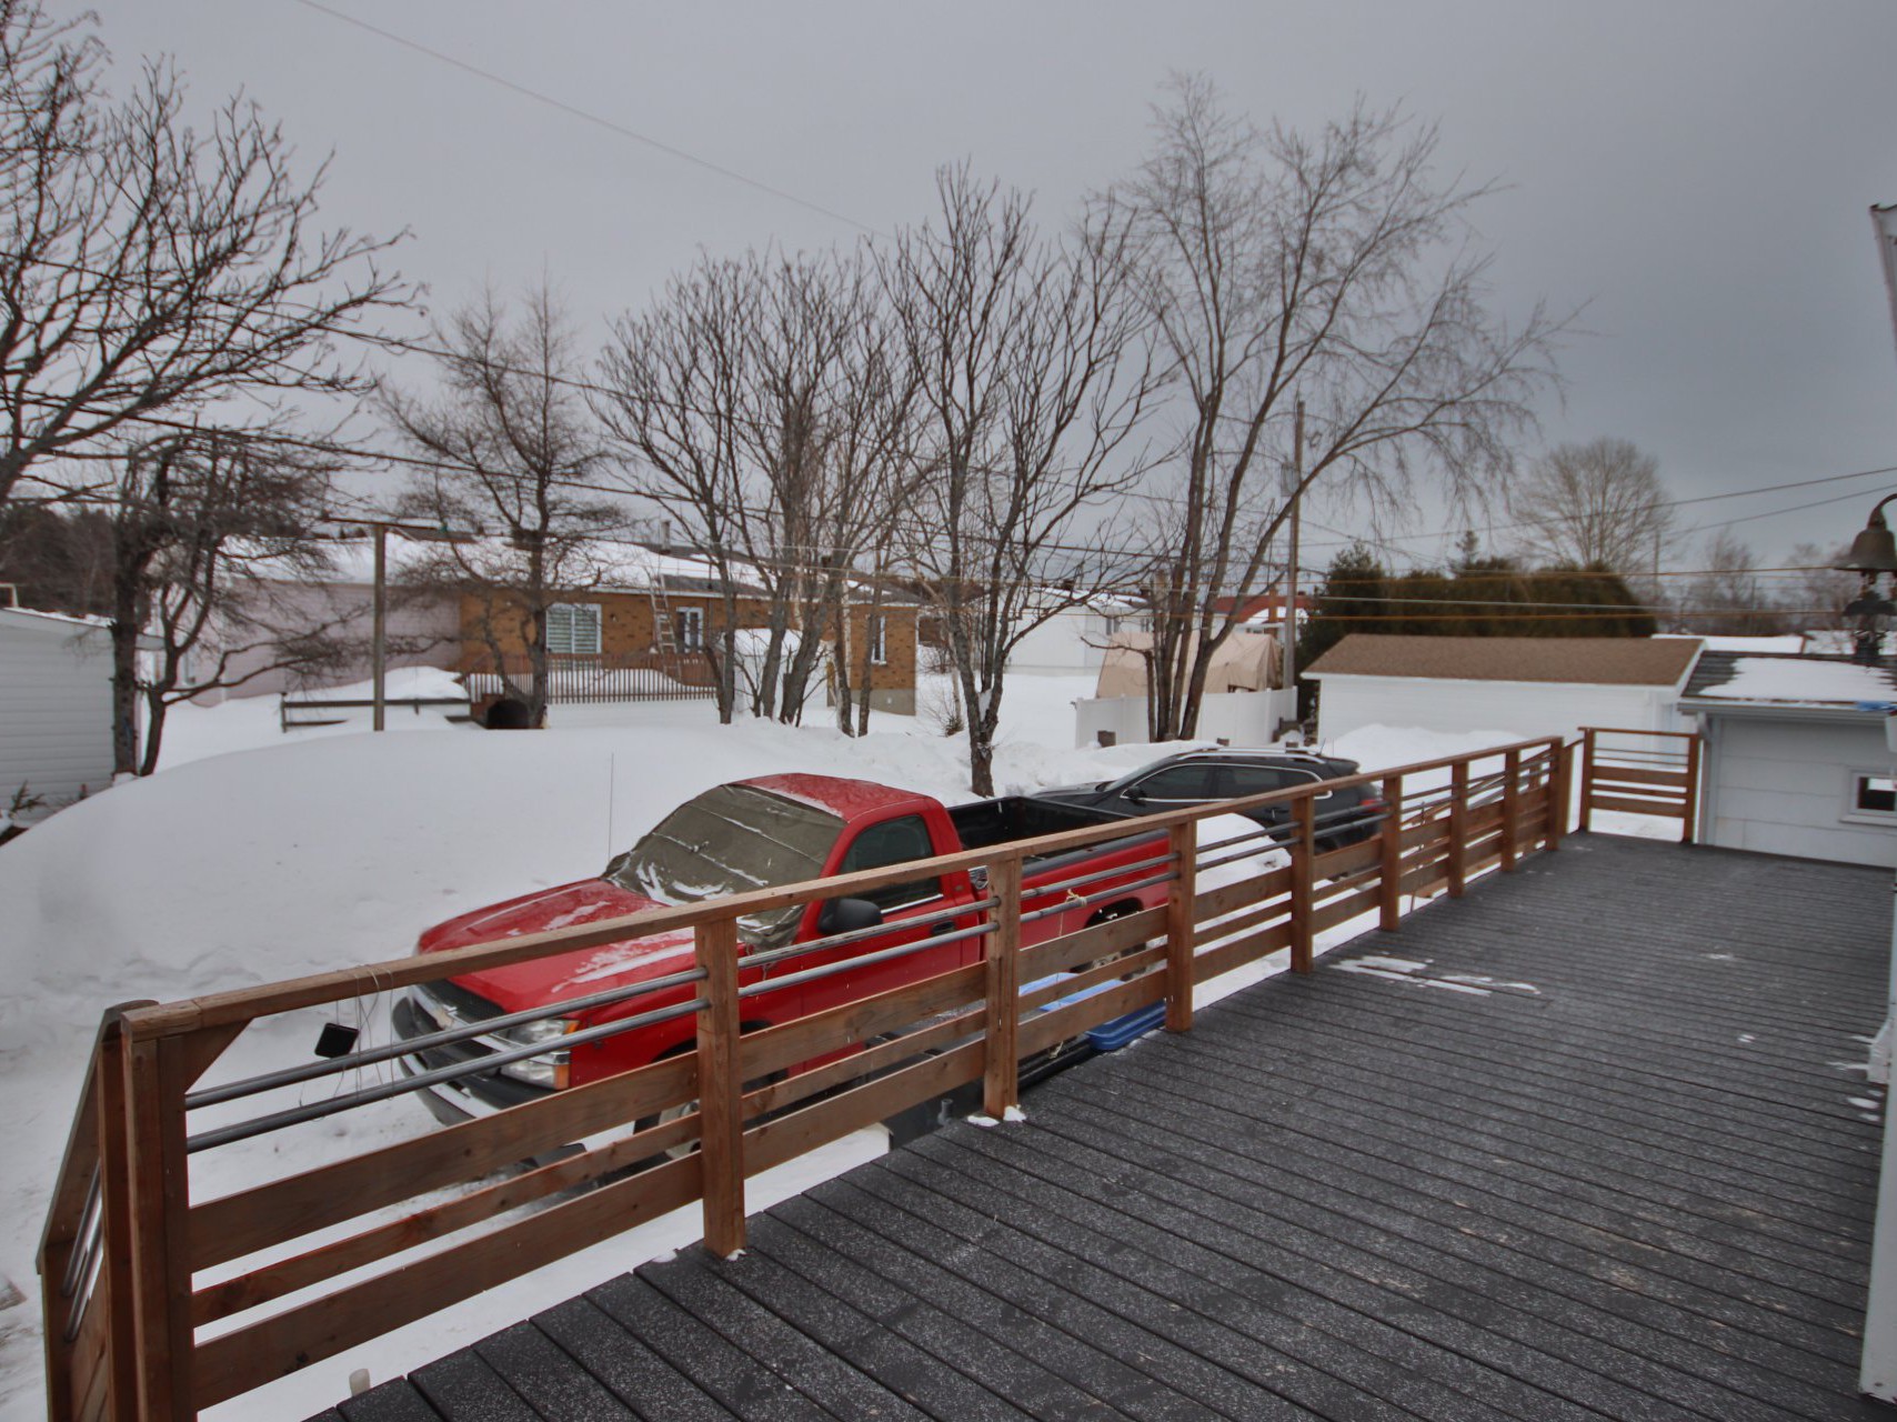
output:
[[1891,1418],[1889,934],[1888,871],[1580,835],[324,1420]]

